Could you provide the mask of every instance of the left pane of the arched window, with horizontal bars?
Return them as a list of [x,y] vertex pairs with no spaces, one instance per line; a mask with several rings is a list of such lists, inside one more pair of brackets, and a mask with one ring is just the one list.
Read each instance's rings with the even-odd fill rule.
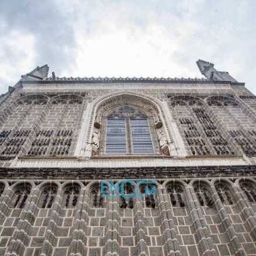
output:
[[127,154],[124,117],[107,118],[106,154]]

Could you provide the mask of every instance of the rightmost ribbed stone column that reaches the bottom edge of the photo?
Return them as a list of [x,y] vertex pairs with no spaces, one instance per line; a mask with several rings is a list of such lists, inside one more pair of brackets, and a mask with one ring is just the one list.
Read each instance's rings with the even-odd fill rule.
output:
[[220,201],[219,195],[215,187],[212,186],[209,192],[211,193],[213,202],[215,202],[216,209],[218,211],[220,219],[222,220],[223,226],[225,227],[227,236],[230,239],[230,244],[233,246],[234,255],[245,256],[246,254],[244,253],[243,247],[241,246],[241,243],[239,241],[239,238],[237,237],[236,231],[232,226],[232,222],[230,221],[229,216],[227,216],[225,208],[222,202]]

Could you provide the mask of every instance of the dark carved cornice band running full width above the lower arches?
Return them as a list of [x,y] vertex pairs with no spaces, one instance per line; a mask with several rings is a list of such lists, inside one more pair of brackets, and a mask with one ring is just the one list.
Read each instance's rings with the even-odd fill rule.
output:
[[113,178],[193,178],[256,176],[256,166],[198,166],[143,168],[13,169],[1,168],[0,178],[24,179],[113,179]]

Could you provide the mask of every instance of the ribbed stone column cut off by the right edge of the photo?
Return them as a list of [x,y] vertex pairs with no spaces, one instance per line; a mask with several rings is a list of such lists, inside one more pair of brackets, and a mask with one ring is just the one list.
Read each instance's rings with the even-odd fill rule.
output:
[[234,185],[230,191],[236,199],[240,214],[243,216],[242,219],[244,219],[245,223],[250,227],[250,230],[247,230],[247,232],[251,234],[251,237],[256,241],[256,214],[253,211],[253,208],[251,208],[247,195],[241,190],[239,185]]

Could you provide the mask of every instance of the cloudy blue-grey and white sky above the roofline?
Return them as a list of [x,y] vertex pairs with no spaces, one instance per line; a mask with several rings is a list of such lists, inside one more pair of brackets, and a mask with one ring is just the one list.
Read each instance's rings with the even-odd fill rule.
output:
[[254,0],[1,0],[0,94],[48,64],[56,76],[201,78],[195,61],[256,93]]

